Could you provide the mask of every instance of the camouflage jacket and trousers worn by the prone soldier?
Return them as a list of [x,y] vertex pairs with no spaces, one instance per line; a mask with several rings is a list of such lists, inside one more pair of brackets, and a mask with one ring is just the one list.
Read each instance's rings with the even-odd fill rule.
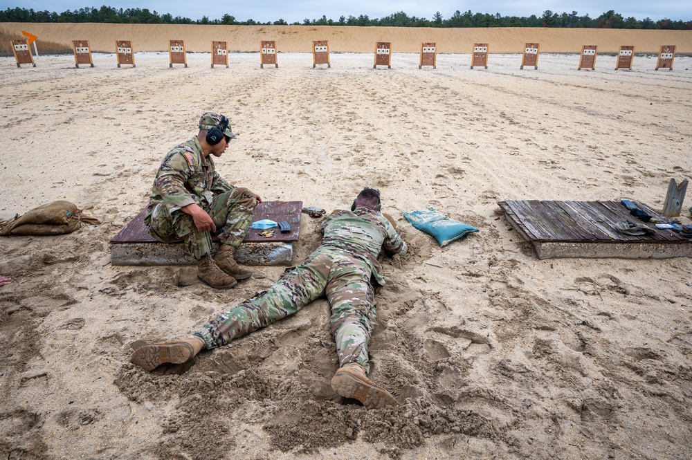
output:
[[366,208],[332,214],[322,229],[322,245],[302,264],[287,269],[267,291],[222,313],[194,335],[208,349],[221,347],[326,294],[340,365],[358,362],[367,372],[367,344],[376,319],[370,279],[374,276],[384,284],[376,257],[382,248],[390,255],[405,255],[408,248],[380,212]]

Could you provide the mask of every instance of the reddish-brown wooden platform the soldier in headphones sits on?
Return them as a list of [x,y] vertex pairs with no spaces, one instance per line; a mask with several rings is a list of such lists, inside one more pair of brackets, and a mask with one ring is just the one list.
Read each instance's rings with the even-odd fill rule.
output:
[[[300,234],[300,212],[302,201],[265,201],[255,208],[251,222],[270,219],[286,221],[291,232],[282,233],[274,228],[271,237],[264,237],[262,230],[248,228],[245,239],[235,251],[235,259],[243,265],[291,265],[293,241]],[[144,208],[125,228],[111,239],[111,264],[136,266],[194,265],[196,262],[185,243],[161,243],[154,239],[144,223],[147,208]],[[214,252],[219,240],[212,235]]]

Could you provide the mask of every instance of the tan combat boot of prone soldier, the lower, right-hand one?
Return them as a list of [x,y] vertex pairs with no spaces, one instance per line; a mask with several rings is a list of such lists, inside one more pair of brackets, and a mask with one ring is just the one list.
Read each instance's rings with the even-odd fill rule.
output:
[[390,392],[365,376],[365,369],[357,362],[349,362],[336,371],[331,378],[331,389],[344,398],[361,401],[368,410],[399,405]]

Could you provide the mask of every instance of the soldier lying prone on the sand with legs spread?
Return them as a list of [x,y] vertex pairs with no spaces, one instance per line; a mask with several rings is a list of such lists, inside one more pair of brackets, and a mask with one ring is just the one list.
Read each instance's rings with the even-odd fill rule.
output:
[[286,270],[267,291],[221,313],[190,338],[137,349],[131,362],[147,371],[165,362],[187,362],[202,349],[228,344],[326,294],[341,366],[331,379],[332,389],[358,399],[367,409],[398,405],[394,396],[365,376],[370,370],[367,345],[375,321],[371,277],[385,283],[377,261],[382,249],[388,255],[406,255],[408,246],[380,212],[379,192],[370,188],[358,194],[352,210],[327,217],[322,231],[320,247],[302,264]]

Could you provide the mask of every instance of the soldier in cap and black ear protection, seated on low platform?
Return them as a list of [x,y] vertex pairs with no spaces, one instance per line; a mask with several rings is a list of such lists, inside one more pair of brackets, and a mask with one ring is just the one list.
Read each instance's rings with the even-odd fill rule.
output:
[[[197,260],[197,276],[212,288],[226,289],[252,272],[235,261],[235,249],[250,226],[260,195],[235,187],[219,176],[213,157],[235,139],[228,118],[207,112],[199,133],[177,145],[161,161],[144,223],[163,243],[185,241]],[[210,232],[221,228],[219,252],[212,258]]]

